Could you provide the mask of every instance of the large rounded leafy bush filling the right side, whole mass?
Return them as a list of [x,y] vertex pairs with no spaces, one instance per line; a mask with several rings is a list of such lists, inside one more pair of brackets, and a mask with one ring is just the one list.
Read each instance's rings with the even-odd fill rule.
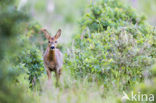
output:
[[120,0],[95,2],[80,23],[65,68],[76,77],[102,79],[106,87],[134,85],[156,57],[156,32],[144,19]]

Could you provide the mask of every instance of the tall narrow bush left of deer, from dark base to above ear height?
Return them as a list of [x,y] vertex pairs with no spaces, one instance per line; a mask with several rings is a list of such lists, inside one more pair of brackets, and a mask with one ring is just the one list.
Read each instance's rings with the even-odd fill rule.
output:
[[[21,75],[27,74],[30,88],[34,87],[39,77],[44,72],[42,53],[38,48],[43,42],[40,32],[40,24],[36,21],[29,22],[26,26],[26,32],[18,37],[20,52],[16,55],[14,70]],[[18,80],[19,82],[22,82]]]

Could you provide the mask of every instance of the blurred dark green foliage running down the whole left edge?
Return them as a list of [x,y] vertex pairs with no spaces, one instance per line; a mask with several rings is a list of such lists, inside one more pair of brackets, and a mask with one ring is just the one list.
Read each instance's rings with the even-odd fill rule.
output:
[[23,94],[22,87],[15,85],[16,72],[11,70],[19,52],[17,37],[29,19],[16,10],[14,3],[15,0],[0,1],[0,103],[31,103],[32,99]]

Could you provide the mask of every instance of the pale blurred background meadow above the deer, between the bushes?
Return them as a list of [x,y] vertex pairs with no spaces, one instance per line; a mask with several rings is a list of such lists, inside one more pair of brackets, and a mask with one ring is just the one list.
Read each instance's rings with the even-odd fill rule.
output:
[[[22,3],[22,1],[27,1]],[[51,35],[62,29],[59,44],[64,46],[72,41],[72,35],[78,31],[77,21],[81,19],[89,3],[88,0],[22,0],[19,9],[30,12]],[[22,5],[23,4],[23,5]],[[71,5],[72,4],[72,5]],[[45,45],[45,44],[43,44]],[[45,47],[45,46],[43,46]],[[43,48],[44,50],[44,48]]]

